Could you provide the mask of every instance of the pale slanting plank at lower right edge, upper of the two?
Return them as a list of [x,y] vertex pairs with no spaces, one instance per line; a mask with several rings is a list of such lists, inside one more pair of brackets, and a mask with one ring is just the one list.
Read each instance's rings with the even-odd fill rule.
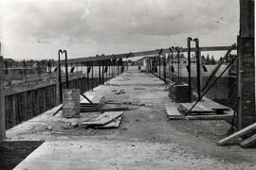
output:
[[224,138],[224,139],[220,140],[218,142],[218,145],[228,144],[231,140],[237,139],[237,138],[247,134],[248,132],[250,132],[250,131],[252,131],[254,129],[256,129],[256,123],[254,123],[254,124],[252,124],[252,125],[250,125],[248,127],[245,127],[243,129],[241,129],[241,130],[231,134],[227,138]]

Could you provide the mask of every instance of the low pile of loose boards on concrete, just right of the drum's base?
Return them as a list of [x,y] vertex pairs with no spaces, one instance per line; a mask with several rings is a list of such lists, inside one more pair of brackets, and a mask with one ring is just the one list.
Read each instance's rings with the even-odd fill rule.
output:
[[107,111],[98,117],[81,123],[81,127],[110,128],[119,127],[123,111]]

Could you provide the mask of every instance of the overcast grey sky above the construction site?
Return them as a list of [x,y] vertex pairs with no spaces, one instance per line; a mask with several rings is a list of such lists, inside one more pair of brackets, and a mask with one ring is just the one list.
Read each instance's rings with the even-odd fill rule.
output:
[[12,59],[186,47],[188,36],[230,45],[239,31],[238,0],[1,0],[0,12],[2,55]]

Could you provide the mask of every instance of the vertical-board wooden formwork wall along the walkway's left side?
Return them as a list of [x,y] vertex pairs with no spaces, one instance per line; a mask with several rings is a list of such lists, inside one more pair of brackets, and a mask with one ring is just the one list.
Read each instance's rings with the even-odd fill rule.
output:
[[[81,89],[82,93],[99,85],[98,78],[82,77],[69,81],[70,88]],[[107,79],[104,78],[104,81]],[[63,87],[65,83],[63,82]],[[43,88],[27,90],[22,93],[12,93],[5,96],[6,108],[6,127],[14,127],[15,125],[27,121],[46,110],[50,110],[56,106],[56,84],[48,85]]]

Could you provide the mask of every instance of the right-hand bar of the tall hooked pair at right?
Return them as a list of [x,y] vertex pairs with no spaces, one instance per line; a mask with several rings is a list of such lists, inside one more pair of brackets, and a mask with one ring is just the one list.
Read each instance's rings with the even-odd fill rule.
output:
[[199,40],[193,39],[193,42],[195,42],[195,57],[196,57],[196,78],[197,78],[197,93],[198,93],[198,98],[201,98],[201,81],[200,81],[200,76],[201,76],[201,68],[200,68],[200,50],[199,50]]

